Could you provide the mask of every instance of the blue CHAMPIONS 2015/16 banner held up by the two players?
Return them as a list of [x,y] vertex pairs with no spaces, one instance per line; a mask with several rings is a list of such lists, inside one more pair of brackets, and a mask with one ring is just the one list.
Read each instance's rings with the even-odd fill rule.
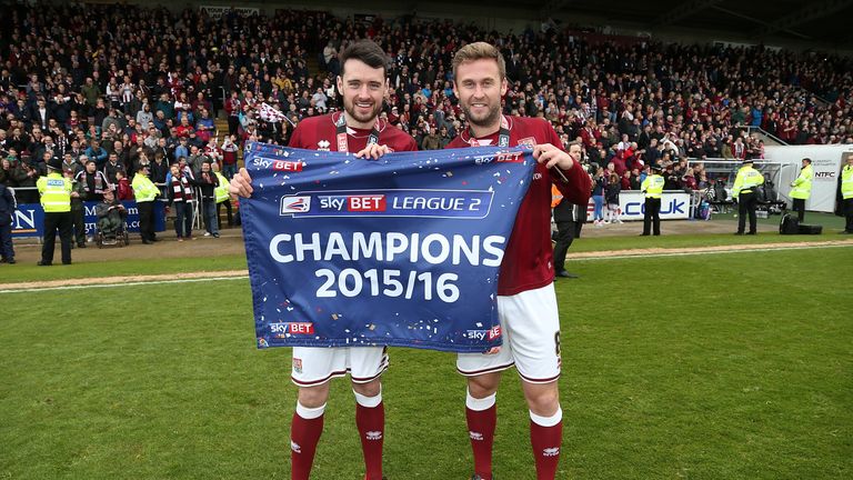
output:
[[258,348],[501,344],[498,273],[531,151],[352,154],[248,143]]

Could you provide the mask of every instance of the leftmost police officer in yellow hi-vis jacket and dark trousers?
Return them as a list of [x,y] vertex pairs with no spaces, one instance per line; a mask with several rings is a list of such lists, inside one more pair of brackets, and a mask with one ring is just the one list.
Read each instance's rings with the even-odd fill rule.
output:
[[62,264],[71,263],[71,180],[62,177],[62,160],[52,158],[48,162],[48,176],[39,178],[36,187],[41,196],[44,209],[44,244],[41,247],[39,266],[53,263],[53,248],[59,240],[62,243]]

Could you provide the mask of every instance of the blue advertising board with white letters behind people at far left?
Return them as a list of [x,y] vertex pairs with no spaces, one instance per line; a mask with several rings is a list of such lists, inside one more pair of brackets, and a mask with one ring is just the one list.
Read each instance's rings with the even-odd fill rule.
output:
[[[139,232],[139,209],[136,201],[121,202],[128,209],[128,231]],[[83,221],[86,234],[94,234],[94,226],[98,216],[94,214],[94,206],[98,202],[83,202]],[[21,203],[14,210],[12,217],[12,238],[44,237],[44,210],[41,203]],[[165,230],[165,203],[154,202],[154,231]]]

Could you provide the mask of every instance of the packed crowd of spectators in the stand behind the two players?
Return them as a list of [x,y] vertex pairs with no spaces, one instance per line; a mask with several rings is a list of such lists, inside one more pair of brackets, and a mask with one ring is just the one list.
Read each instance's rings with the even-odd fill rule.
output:
[[[363,37],[391,61],[382,116],[421,149],[465,128],[450,60],[475,40],[508,59],[505,112],[546,118],[610,170],[593,166],[593,176],[615,174],[622,189],[636,189],[653,162],[666,168],[668,188],[705,188],[702,167],[685,159],[761,158],[751,128],[787,143],[853,142],[849,58],[320,11],[213,19],[200,9],[16,3],[6,17],[0,181],[11,187],[33,187],[53,157],[78,180],[94,169],[116,190],[117,176],[131,181],[141,164],[161,184],[179,161],[191,177],[215,162],[230,179],[244,141],[285,143],[301,119],[340,108],[337,53]],[[18,201],[38,196],[23,189]]]

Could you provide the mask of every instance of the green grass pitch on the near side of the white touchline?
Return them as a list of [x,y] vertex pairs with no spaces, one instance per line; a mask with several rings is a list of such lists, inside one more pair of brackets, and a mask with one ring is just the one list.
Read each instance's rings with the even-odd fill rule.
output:
[[[559,478],[853,478],[853,248],[570,266]],[[0,294],[0,479],[289,478],[290,351],[255,350],[250,301],[244,279]],[[389,479],[466,479],[454,357],[392,349],[383,380]],[[514,370],[498,398],[495,470],[532,479]],[[353,412],[334,381],[314,478],[361,478]]]

